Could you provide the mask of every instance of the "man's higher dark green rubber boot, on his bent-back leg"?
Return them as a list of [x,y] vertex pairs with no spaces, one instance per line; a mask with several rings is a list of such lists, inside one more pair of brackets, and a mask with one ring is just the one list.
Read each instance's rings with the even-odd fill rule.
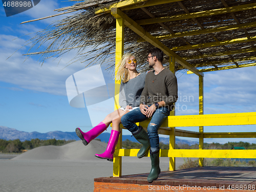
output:
[[139,130],[133,133],[133,136],[135,139],[137,139],[137,141],[139,141],[142,144],[142,147],[137,154],[138,158],[142,158],[150,149],[150,139],[148,138],[148,135],[142,126],[139,126]]

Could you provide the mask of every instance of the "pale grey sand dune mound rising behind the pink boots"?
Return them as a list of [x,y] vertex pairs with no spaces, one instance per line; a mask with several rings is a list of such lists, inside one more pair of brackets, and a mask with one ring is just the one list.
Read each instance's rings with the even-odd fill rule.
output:
[[84,146],[81,141],[62,146],[40,146],[12,160],[97,160],[94,155],[103,153],[106,146],[106,143],[96,140],[91,141],[88,146]]

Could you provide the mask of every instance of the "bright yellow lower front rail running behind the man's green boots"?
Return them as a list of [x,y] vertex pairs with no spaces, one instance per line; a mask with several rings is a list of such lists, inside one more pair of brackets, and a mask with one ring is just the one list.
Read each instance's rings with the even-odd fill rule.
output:
[[[139,150],[116,150],[114,156],[136,157]],[[145,157],[149,157],[150,154]],[[256,150],[160,150],[160,157],[255,158]]]

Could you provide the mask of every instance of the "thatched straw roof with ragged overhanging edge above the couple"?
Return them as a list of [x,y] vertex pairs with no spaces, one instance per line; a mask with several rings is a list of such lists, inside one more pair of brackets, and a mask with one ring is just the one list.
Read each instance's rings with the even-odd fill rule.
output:
[[[75,12],[39,32],[34,44],[49,42],[38,48],[41,61],[77,50],[74,60],[115,66],[116,18],[108,8],[111,0],[89,0],[56,11]],[[76,1],[77,2],[77,1]],[[131,1],[129,1],[131,2]],[[135,2],[135,1],[134,1]],[[145,31],[198,69],[237,66],[256,60],[256,1],[252,0],[148,0],[136,1],[122,10]],[[158,3],[156,3],[158,2]],[[159,4],[159,2],[162,2]],[[151,6],[154,4],[153,6]],[[159,5],[156,5],[159,4]],[[99,14],[95,11],[104,8]],[[153,20],[151,18],[157,18]],[[158,23],[156,23],[158,22]],[[255,45],[255,46],[254,46]],[[146,51],[153,46],[129,28],[124,32],[124,52],[133,52],[146,71]],[[89,50],[90,49],[90,50]],[[169,58],[165,55],[164,65]],[[90,63],[90,65],[92,64]],[[185,68],[176,62],[176,70]]]

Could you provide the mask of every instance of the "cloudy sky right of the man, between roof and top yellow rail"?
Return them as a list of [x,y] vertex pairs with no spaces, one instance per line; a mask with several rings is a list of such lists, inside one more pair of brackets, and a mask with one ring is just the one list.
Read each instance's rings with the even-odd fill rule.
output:
[[[256,108],[256,67],[223,70],[204,75],[204,114],[254,112]],[[183,114],[198,114],[198,77],[178,73],[177,104],[186,105]],[[186,101],[189,96],[194,101]],[[186,102],[184,102],[186,101]],[[190,111],[190,112],[189,112]]]

